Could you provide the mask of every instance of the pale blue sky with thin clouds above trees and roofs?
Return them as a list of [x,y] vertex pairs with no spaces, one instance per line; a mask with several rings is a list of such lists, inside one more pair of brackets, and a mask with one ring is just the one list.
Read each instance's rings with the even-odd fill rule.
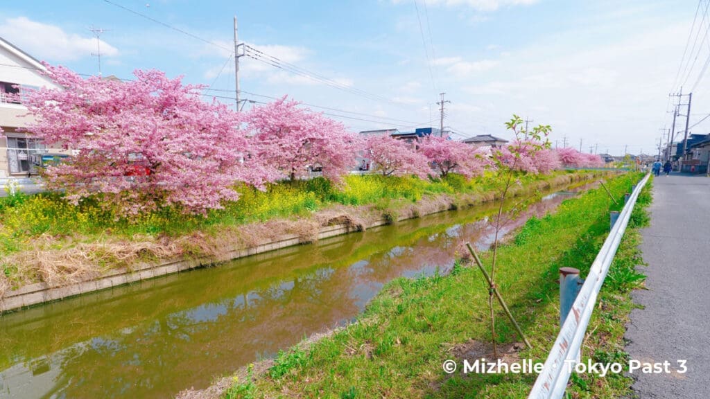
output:
[[[101,0],[4,1],[0,36],[40,60],[96,74],[89,26],[104,28],[103,75],[129,78],[135,69],[155,68],[209,84],[214,90],[206,94],[233,97],[228,59],[236,15],[240,40],[350,88],[244,57],[241,89],[253,93],[244,93],[247,99],[288,94],[340,110],[313,108],[341,115],[333,117],[354,131],[410,130],[438,126],[435,102],[447,92],[452,103],[444,124],[465,136],[509,137],[503,122],[517,113],[552,125],[553,143],[566,137],[579,148],[581,139],[584,151],[598,145],[599,153],[615,154],[627,145],[630,153],[657,151],[659,129],[670,127],[667,94],[680,86],[674,77],[698,6],[677,0],[111,2],[217,45]],[[710,55],[710,37],[699,43],[696,65],[679,79],[686,87]],[[697,84],[691,124],[710,112],[707,79]],[[709,131],[710,119],[694,128]]]

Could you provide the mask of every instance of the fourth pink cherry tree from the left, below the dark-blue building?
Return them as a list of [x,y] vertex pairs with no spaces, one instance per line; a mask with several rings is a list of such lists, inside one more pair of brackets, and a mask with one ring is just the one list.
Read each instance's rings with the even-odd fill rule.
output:
[[488,165],[484,154],[461,141],[427,136],[421,139],[419,147],[441,177],[452,172],[469,178],[482,175]]

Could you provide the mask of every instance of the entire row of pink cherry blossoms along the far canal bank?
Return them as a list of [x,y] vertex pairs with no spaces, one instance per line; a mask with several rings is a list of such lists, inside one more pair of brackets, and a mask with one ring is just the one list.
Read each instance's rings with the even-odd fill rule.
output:
[[34,121],[27,130],[48,146],[75,152],[47,168],[48,188],[64,190],[75,203],[99,195],[124,216],[164,206],[204,213],[237,200],[239,182],[263,188],[311,170],[340,182],[358,154],[383,175],[422,179],[473,177],[503,167],[550,173],[561,165],[603,164],[596,155],[528,140],[484,152],[434,136],[413,142],[362,138],[286,97],[237,112],[202,101],[202,87],[155,70],[138,70],[127,82],[84,79],[50,65],[47,74],[62,89],[30,90],[25,103]]

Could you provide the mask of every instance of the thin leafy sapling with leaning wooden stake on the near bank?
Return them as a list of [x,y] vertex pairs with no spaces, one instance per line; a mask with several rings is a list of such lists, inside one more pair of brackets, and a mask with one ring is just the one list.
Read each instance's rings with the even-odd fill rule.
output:
[[[501,229],[506,224],[503,219],[503,209],[506,208],[506,200],[508,200],[508,195],[510,195],[513,185],[518,184],[517,176],[520,173],[530,173],[537,174],[545,171],[554,169],[559,165],[559,160],[557,157],[549,153],[550,142],[547,141],[547,136],[552,130],[550,126],[536,126],[532,131],[526,131],[523,128],[523,119],[520,116],[513,115],[513,119],[506,122],[506,127],[508,130],[513,131],[515,135],[515,140],[513,140],[507,146],[503,148],[498,148],[493,151],[493,165],[498,170],[498,212],[495,219],[495,236],[493,240],[493,254],[491,258],[491,268],[490,273],[486,272],[483,264],[481,263],[479,257],[475,253],[474,249],[469,245],[469,251],[474,256],[474,260],[478,263],[481,271],[484,272],[486,280],[488,283],[488,309],[491,315],[491,342],[493,344],[493,356],[498,357],[498,346],[496,343],[496,313],[493,309],[494,298],[497,298],[503,309],[506,311],[506,315],[513,323],[515,329],[518,331],[520,337],[525,341],[525,344],[530,346],[528,339],[525,338],[522,330],[515,322],[515,318],[508,310],[507,305],[503,301],[501,293],[498,291],[496,285],[496,262],[498,260],[498,246],[501,239]],[[508,213],[514,213],[514,209],[510,209]]]

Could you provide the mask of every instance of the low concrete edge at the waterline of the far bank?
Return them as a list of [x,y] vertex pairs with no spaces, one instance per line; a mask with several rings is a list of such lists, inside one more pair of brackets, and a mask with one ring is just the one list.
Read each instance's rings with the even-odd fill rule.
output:
[[[586,175],[569,175],[569,179],[564,179],[564,181],[559,182],[557,184],[551,184],[550,181],[543,180],[537,183],[538,187],[532,187],[532,190],[543,190],[544,188],[554,189],[557,187],[570,185],[574,182],[592,180],[595,177],[600,177],[601,175],[603,174],[590,173]],[[545,187],[546,185],[547,187]],[[406,219],[413,219],[415,217],[426,216],[428,214],[444,212],[449,209],[439,209],[433,212],[418,214],[417,216],[404,216],[398,218],[397,222],[401,222]],[[390,223],[391,222],[388,221],[388,219],[383,218],[369,224],[368,226],[366,226],[366,228],[369,229],[372,227],[384,226]],[[324,226],[317,234],[317,239],[327,239],[329,237],[339,236],[341,234],[348,234],[354,231],[359,231],[359,229],[356,229],[354,226],[350,226],[348,224],[334,224],[332,226]],[[258,253],[264,253],[268,251],[275,251],[277,249],[287,248],[289,246],[296,246],[310,241],[312,240],[305,240],[303,239],[303,237],[297,236],[295,234],[285,234],[283,236],[280,236],[278,240],[272,241],[270,243],[253,246],[251,248],[232,249],[229,251],[225,251],[220,256],[216,257],[213,256],[209,258],[182,259],[178,261],[168,261],[159,264],[136,263],[130,269],[119,268],[116,270],[110,270],[106,274],[102,275],[100,278],[83,281],[71,285],[65,285],[61,287],[51,287],[47,283],[34,283],[30,285],[24,285],[21,288],[18,288],[16,290],[9,290],[5,293],[4,297],[0,299],[0,313],[12,310],[20,310],[22,308],[31,307],[33,305],[39,305],[46,302],[66,299],[68,297],[93,293],[99,290],[119,287],[121,285],[136,283],[142,280],[148,280],[149,278],[160,277],[162,275],[180,273],[194,268],[211,266],[217,263],[224,263],[237,258],[244,258],[246,256],[252,256]]]

